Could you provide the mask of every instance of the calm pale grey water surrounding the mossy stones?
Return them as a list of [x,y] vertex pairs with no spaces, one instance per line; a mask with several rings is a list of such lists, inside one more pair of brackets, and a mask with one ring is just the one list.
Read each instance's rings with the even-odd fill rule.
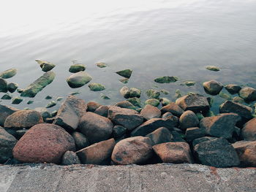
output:
[[[43,74],[35,59],[56,64],[56,79],[31,99],[15,105],[44,107],[45,96],[79,97],[101,104],[124,100],[124,86],[114,72],[132,69],[127,86],[165,88],[168,99],[176,89],[203,93],[202,83],[211,79],[224,85],[237,83],[256,88],[256,1],[173,0],[173,1],[5,1],[0,7],[0,71],[15,67],[18,74],[8,82],[26,88]],[[89,87],[72,89],[67,85],[73,60],[86,64],[91,82],[105,85],[110,100]],[[97,61],[108,64],[99,69]],[[205,69],[219,66],[220,72]],[[157,84],[154,78],[177,76],[178,82]],[[195,86],[179,85],[194,80]],[[2,96],[4,93],[0,93]],[[18,96],[13,93],[12,96]],[[215,98],[217,105],[224,101]],[[146,96],[142,96],[145,100]],[[1,104],[10,104],[2,101]],[[59,107],[53,107],[56,110]]]

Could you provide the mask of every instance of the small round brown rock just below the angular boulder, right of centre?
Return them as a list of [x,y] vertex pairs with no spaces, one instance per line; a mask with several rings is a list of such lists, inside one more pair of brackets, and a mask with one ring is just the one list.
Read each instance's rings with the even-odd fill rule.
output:
[[198,126],[199,120],[195,112],[190,110],[185,111],[181,117],[179,118],[179,124],[182,130],[186,130],[189,127],[196,127]]

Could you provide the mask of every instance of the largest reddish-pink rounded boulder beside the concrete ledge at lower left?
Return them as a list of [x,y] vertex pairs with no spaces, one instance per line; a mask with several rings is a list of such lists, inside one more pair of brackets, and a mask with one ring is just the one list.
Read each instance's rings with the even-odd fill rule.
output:
[[75,150],[71,135],[60,126],[44,123],[30,128],[12,153],[21,162],[59,164],[67,150]]

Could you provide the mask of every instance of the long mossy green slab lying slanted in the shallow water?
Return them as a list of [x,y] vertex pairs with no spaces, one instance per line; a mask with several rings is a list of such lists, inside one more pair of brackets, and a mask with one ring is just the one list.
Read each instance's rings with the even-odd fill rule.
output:
[[51,82],[53,82],[55,78],[54,72],[46,72],[41,77],[39,77],[37,80],[32,82],[29,87],[24,89],[24,91],[20,94],[20,96],[25,97],[34,97],[39,93],[39,91],[42,91],[43,88],[45,88],[47,85],[49,85]]

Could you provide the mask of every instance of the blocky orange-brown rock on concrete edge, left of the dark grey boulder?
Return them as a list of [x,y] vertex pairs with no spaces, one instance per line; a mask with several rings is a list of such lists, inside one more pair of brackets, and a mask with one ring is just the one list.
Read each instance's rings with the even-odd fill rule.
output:
[[164,163],[192,164],[193,158],[187,142],[166,142],[154,145],[153,150]]

